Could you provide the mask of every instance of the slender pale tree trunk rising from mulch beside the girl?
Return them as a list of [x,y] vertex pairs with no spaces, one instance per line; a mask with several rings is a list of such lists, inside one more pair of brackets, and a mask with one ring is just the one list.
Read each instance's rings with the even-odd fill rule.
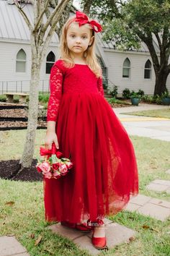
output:
[[30,81],[30,101],[26,141],[24,143],[24,151],[20,163],[22,168],[29,168],[32,164],[32,158],[35,149],[35,133],[37,129],[37,114],[38,114],[38,93],[40,81],[40,58],[36,51],[32,51],[32,67]]

